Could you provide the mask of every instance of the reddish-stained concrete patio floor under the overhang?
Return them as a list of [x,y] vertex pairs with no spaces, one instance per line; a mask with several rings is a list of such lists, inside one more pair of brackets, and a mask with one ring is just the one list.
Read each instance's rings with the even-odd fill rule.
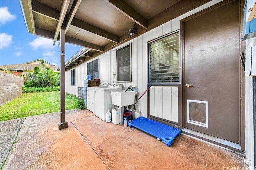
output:
[[136,128],[106,123],[88,110],[26,117],[3,170],[228,170],[244,157],[181,134],[170,147]]

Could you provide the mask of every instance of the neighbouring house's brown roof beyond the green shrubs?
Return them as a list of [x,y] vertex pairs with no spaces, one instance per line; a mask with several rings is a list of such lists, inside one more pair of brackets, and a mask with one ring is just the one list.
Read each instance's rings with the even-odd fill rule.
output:
[[[41,59],[38,59],[38,60],[41,60]],[[35,66],[38,66],[38,67],[41,67],[41,64],[34,64],[36,61],[38,60],[35,60],[35,61],[30,61],[28,63],[24,63],[24,64],[10,64],[10,65],[3,65],[3,66],[0,66],[4,69],[10,69],[10,70],[25,70],[25,71],[32,71],[33,68]],[[53,71],[58,71],[58,67],[57,66],[54,66],[50,63],[47,63],[45,62],[45,67],[50,67]]]

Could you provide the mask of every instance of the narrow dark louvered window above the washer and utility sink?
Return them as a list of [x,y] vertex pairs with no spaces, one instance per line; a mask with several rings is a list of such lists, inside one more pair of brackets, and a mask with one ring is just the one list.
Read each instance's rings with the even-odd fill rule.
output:
[[132,81],[131,74],[131,44],[116,50],[116,82]]

